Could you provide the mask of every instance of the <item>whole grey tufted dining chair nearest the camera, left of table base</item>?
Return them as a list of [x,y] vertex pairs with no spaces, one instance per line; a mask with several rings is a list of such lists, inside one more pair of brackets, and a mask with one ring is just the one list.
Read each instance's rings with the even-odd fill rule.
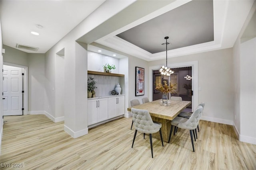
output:
[[133,147],[133,144],[134,144],[134,140],[135,140],[137,131],[139,131],[141,133],[144,133],[144,134],[145,133],[149,134],[151,154],[152,154],[152,158],[153,158],[152,133],[156,133],[156,132],[159,131],[161,141],[162,141],[162,146],[164,146],[162,131],[161,131],[162,124],[161,123],[156,123],[156,122],[154,123],[152,121],[152,118],[151,118],[150,114],[148,113],[148,111],[143,110],[143,109],[132,108],[132,119],[134,121],[134,126],[135,126],[135,129],[136,129],[135,133],[134,133],[134,138],[133,138],[133,141],[132,141],[132,147]]

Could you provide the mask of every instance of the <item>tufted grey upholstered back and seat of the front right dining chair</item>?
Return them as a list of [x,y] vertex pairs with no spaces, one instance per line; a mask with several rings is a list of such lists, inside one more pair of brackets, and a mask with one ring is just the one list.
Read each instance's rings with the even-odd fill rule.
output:
[[199,123],[200,117],[202,115],[201,114],[202,111],[203,111],[203,107],[197,106],[196,110],[192,113],[190,118],[184,123],[178,123],[177,127],[180,127],[182,129],[189,129],[189,130],[196,129]]

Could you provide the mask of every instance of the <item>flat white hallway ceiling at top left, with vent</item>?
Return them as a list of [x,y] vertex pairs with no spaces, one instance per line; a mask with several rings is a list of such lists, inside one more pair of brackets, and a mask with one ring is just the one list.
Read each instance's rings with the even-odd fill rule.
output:
[[[3,44],[38,47],[46,53],[105,0],[1,0]],[[36,25],[42,25],[39,29]],[[35,31],[40,35],[32,35]]]

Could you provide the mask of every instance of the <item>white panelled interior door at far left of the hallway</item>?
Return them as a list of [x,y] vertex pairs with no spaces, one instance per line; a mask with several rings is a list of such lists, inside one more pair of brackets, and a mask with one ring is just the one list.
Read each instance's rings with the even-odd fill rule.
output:
[[3,66],[4,116],[22,115],[22,68]]

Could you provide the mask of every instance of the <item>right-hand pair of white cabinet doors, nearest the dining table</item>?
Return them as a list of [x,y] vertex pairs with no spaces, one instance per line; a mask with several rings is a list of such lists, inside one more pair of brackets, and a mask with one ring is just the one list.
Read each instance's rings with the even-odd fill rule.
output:
[[124,96],[108,98],[108,119],[124,114]]

